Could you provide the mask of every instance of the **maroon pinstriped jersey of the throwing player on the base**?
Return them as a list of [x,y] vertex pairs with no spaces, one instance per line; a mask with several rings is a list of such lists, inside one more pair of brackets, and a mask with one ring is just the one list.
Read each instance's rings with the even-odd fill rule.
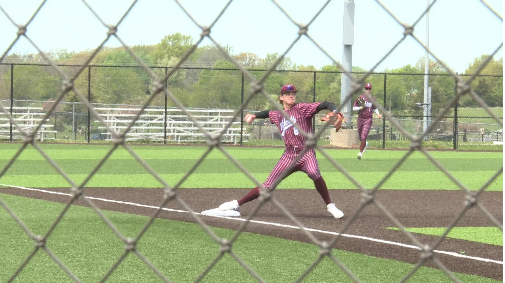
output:
[[290,120],[286,120],[282,116],[280,111],[270,111],[268,112],[268,117],[272,124],[277,125],[282,137],[284,138],[284,143],[286,146],[304,146],[306,138],[302,136],[298,129],[293,126],[293,122],[296,122],[297,126],[307,133],[312,132],[312,116],[316,114],[316,108],[321,103],[298,103],[295,104],[288,110],[285,110],[286,114],[291,117]]

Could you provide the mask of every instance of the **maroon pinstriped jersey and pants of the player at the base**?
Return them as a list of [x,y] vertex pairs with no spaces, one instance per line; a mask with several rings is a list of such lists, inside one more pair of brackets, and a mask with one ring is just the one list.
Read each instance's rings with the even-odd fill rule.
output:
[[[286,110],[286,114],[290,116],[290,120],[286,120],[279,111],[269,111],[268,116],[272,124],[277,125],[281,136],[284,138],[286,150],[282,154],[277,165],[268,176],[267,180],[263,183],[265,187],[270,187],[275,179],[289,167],[294,161],[296,156],[304,148],[306,138],[299,134],[298,129],[293,126],[296,122],[297,126],[307,133],[312,132],[312,117],[317,113],[316,108],[321,103],[299,103],[295,104],[292,108]],[[317,180],[321,177],[319,172],[319,164],[316,159],[316,151],[310,149],[305,155],[296,163],[289,174],[295,171],[305,172],[311,179]],[[286,176],[289,176],[287,174]]]

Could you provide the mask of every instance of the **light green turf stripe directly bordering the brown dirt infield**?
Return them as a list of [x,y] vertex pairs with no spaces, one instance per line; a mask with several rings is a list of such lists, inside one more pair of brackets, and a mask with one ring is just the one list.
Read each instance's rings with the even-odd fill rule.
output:
[[[351,175],[366,187],[376,185],[387,173],[370,174],[367,172],[351,172]],[[495,174],[495,171],[452,172],[470,190],[479,188]],[[184,174],[160,174],[165,181],[173,185]],[[260,182],[266,180],[268,173],[252,173]],[[86,174],[70,174],[72,180],[81,182]],[[343,174],[338,172],[324,173],[329,188],[357,188]],[[4,175],[0,183],[28,187],[69,187],[60,175]],[[148,174],[96,174],[86,184],[89,187],[161,187],[161,184]],[[191,174],[182,187],[225,187],[249,188],[255,184],[242,173],[211,173]],[[303,172],[295,172],[284,179],[278,188],[313,188],[314,182]],[[442,172],[395,172],[382,186],[390,190],[460,190]],[[496,178],[486,191],[502,191],[503,179]]]

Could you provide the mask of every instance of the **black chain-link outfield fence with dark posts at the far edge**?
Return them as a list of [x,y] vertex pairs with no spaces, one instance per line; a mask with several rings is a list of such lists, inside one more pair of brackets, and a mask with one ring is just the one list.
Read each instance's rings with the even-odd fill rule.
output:
[[[232,65],[231,63],[228,63]],[[75,66],[58,65],[65,68],[64,71],[71,72]],[[46,111],[46,106],[54,100],[59,83],[58,77],[48,65],[29,64],[4,64],[2,78],[2,88],[4,89],[3,99],[6,104],[14,105],[14,113],[18,115],[27,114],[28,109],[24,107],[38,107]],[[236,111],[244,100],[244,93],[250,92],[250,78],[244,77],[242,72],[236,68],[179,68],[167,80],[167,89],[170,89],[174,96],[186,108],[208,110]],[[157,75],[162,76],[168,72],[170,67],[150,67]],[[11,73],[12,71],[12,73]],[[153,80],[151,80],[142,68],[125,66],[88,66],[88,72],[83,72],[76,84],[79,89],[88,93],[88,98],[94,107],[109,112],[116,111],[118,115],[122,109],[140,109],[142,101],[151,93]],[[250,70],[251,75],[260,78],[266,70]],[[12,77],[14,74],[14,77]],[[353,73],[357,78],[364,73]],[[264,83],[265,91],[276,99],[279,86],[284,82],[296,82],[299,89],[298,101],[300,102],[322,102],[325,100],[338,102],[340,100],[342,72],[337,71],[273,71]],[[467,78],[468,75],[462,75]],[[377,102],[384,106],[385,111],[398,121],[409,133],[419,135],[423,131],[425,120],[428,124],[433,121],[436,115],[443,110],[444,103],[457,92],[457,80],[449,74],[431,74],[429,76],[429,96],[431,104],[423,103],[423,74],[395,74],[395,73],[371,73],[366,78],[367,82],[373,85],[373,92]],[[503,102],[503,76],[499,75],[478,75],[476,81],[472,82],[478,86],[478,96],[491,106],[491,110],[502,119]],[[9,91],[12,89],[12,100],[9,98]],[[360,93],[357,93],[355,99]],[[164,109],[159,111],[159,123],[145,124],[143,130],[150,133],[158,132],[158,136],[145,135],[143,138],[133,138],[134,142],[163,142],[171,143],[197,142],[198,138],[177,138],[174,135],[166,134],[172,131],[170,123],[161,123],[170,120],[170,108],[175,107],[170,100],[165,100],[164,96],[158,96],[151,104],[150,108]],[[241,111],[240,117],[247,113],[270,109],[270,105],[262,97],[253,98],[249,104]],[[428,115],[424,116],[423,110],[428,107]],[[166,109],[165,109],[166,108]],[[125,110],[126,111],[126,110]],[[167,114],[166,117],[164,114]],[[356,129],[357,115],[352,113],[350,127]],[[148,115],[148,114],[146,114]],[[322,116],[324,114],[320,114]],[[200,115],[201,116],[201,115]],[[317,116],[317,117],[319,117]],[[2,116],[8,121],[6,116]],[[141,115],[140,119],[146,117]],[[117,117],[120,119],[120,117]],[[180,117],[179,117],[180,118]],[[208,117],[214,119],[212,115]],[[47,140],[57,139],[61,141],[85,141],[87,143],[105,140],[107,131],[98,121],[92,120],[87,123],[87,119],[92,120],[91,114],[83,103],[75,95],[67,96],[61,105],[53,111],[49,118],[49,125],[53,125],[51,135],[45,137]],[[226,118],[225,118],[226,119]],[[107,120],[106,120],[107,121]],[[189,121],[189,120],[187,120]],[[234,122],[240,122],[237,117]],[[314,119],[315,130],[319,130],[323,125],[320,119]],[[5,124],[4,131],[7,129]],[[138,126],[138,125],[136,125]],[[165,128],[164,128],[165,126]],[[194,124],[186,124],[188,128],[195,128]],[[123,126],[124,127],[124,126]],[[181,127],[179,127],[181,128]],[[331,126],[330,126],[331,128]],[[277,128],[266,122],[255,122],[248,126],[240,123],[242,139],[239,145],[282,145],[283,141],[277,133]],[[16,129],[13,129],[16,131]],[[134,128],[133,132],[139,132]],[[88,138],[87,133],[90,133]],[[129,132],[130,135],[132,131]],[[163,135],[162,135],[163,133]],[[249,135],[252,133],[252,135]],[[199,134],[199,132],[195,132]],[[244,138],[244,135],[246,134]],[[357,136],[357,131],[355,132]],[[109,135],[110,136],[110,135]],[[4,139],[10,139],[10,132],[4,132]],[[321,144],[327,147],[344,147],[340,137],[330,138],[330,130],[327,129],[322,135]],[[14,133],[13,139],[21,139],[22,136]],[[42,139],[41,139],[42,140]],[[181,141],[183,140],[183,141]],[[236,141],[235,139],[231,139]],[[395,129],[386,118],[375,118],[371,134],[368,137],[371,148],[409,148],[409,140],[398,129]],[[426,139],[430,143],[427,147],[434,149],[475,149],[475,150],[500,150],[503,143],[502,127],[486,113],[477,103],[469,98],[463,97],[458,100],[453,107],[442,117],[437,127],[428,135]],[[43,141],[43,140],[42,140]],[[244,142],[245,141],[245,142]],[[234,142],[234,144],[237,144]]]

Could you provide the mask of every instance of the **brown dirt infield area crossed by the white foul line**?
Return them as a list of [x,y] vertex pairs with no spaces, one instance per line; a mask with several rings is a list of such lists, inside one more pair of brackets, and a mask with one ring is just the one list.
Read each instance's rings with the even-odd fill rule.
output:
[[[68,189],[44,189],[70,193]],[[56,202],[68,202],[69,197],[53,195],[41,192],[19,190],[17,188],[2,188],[2,193],[25,196],[30,198],[44,199]],[[184,188],[177,191],[177,196],[188,204],[195,212],[216,208],[224,201],[240,198],[248,190],[229,188]],[[86,188],[85,195],[110,200],[127,201],[143,205],[159,206],[162,202],[163,191],[160,188]],[[333,219],[326,212],[326,207],[321,197],[315,190],[306,189],[279,189],[273,194],[298,221],[305,227],[339,232],[340,228],[356,212],[361,204],[361,194],[358,190],[330,190],[330,196],[340,209],[345,213],[343,219]],[[461,191],[392,191],[380,190],[376,199],[406,227],[446,227],[463,210],[464,193]],[[483,192],[479,201],[491,214],[503,222],[503,193]],[[155,212],[151,208],[135,207],[131,205],[93,201],[100,209],[121,211],[133,214],[151,216]],[[242,218],[246,218],[257,205],[258,201],[245,204],[241,208]],[[75,204],[87,206],[81,200]],[[172,200],[167,208],[184,208]],[[160,218],[195,222],[187,213],[163,211]],[[242,221],[200,216],[208,225],[229,229],[238,229]],[[253,220],[268,221],[274,223],[295,225],[272,203],[267,203],[260,209]],[[345,231],[346,234],[360,235],[380,240],[387,240],[408,245],[414,245],[412,241],[401,231],[385,229],[394,227],[376,206],[369,205],[358,215],[356,220]],[[477,208],[472,208],[456,226],[475,227],[493,226],[484,214]],[[300,230],[279,226],[249,223],[245,229],[247,232],[260,233],[273,237],[311,243],[310,239]],[[334,235],[313,232],[320,241],[331,241]],[[438,237],[415,234],[421,243],[433,245]],[[420,251],[405,247],[394,246],[370,240],[340,237],[334,248],[352,252],[363,253],[375,257],[388,258],[415,264],[420,260]],[[436,250],[460,253],[464,251],[467,256],[481,257],[502,261],[503,248],[501,246],[482,244],[471,241],[444,239]],[[502,280],[503,265],[490,262],[482,262],[474,259],[460,258],[451,255],[438,254],[437,258],[453,272],[461,272],[485,276]],[[436,267],[430,262],[425,266]]]

